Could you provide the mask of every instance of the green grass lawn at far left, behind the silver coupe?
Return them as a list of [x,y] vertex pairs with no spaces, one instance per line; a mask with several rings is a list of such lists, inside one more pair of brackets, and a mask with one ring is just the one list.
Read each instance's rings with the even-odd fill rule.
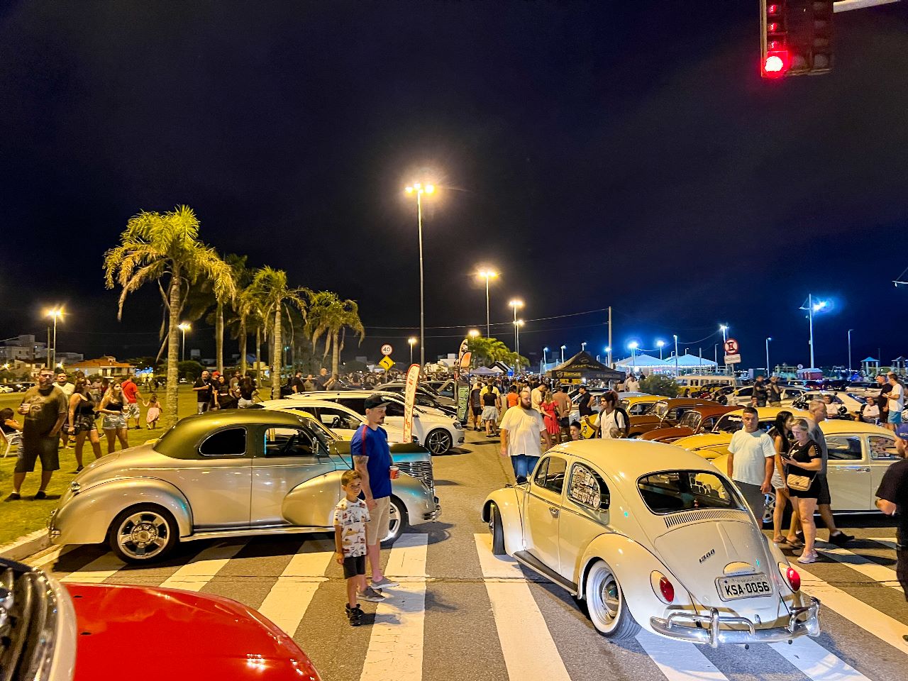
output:
[[[158,397],[162,401],[163,406],[163,390],[158,392]],[[181,419],[184,416],[195,413],[195,396],[192,393],[190,386],[180,386],[179,400],[178,413]],[[0,395],[0,409],[10,407],[15,410],[21,401],[22,393]],[[140,405],[140,407],[141,406],[142,405]],[[22,422],[22,417],[20,415],[16,414],[15,418],[18,419],[20,423]],[[131,429],[129,431],[129,444],[131,447],[141,445],[146,440],[156,438],[164,432],[161,428],[160,421],[158,429],[156,430],[148,430],[145,428],[144,408],[142,408],[142,420],[140,422],[142,423],[143,429]],[[100,428],[100,426],[101,420],[99,419],[98,427]],[[106,454],[107,442],[106,439],[104,439],[104,433],[99,431],[98,434],[101,436],[101,451],[103,454]],[[70,480],[75,477],[75,456],[72,448],[72,440],[70,441],[70,445],[69,449],[60,449],[60,470],[54,472],[51,484],[47,488],[47,494],[52,497],[59,497],[59,495],[62,495],[64,490],[69,487]],[[3,447],[5,449],[5,444]],[[117,443],[117,449],[120,449],[119,443]],[[2,452],[2,449],[0,449],[0,452]],[[14,449],[5,459],[0,459],[0,499],[6,498],[6,496],[13,491],[15,454],[16,450]],[[83,460],[86,465],[94,461],[91,443],[87,440],[83,449]],[[41,463],[38,462],[35,464],[35,472],[29,473],[25,477],[25,484],[22,486],[21,501],[9,501],[6,503],[0,501],[0,545],[34,532],[36,529],[46,527],[47,518],[50,517],[51,511],[54,510],[57,502],[55,498],[42,500],[33,499],[35,491],[38,489],[38,483],[41,476],[40,471]]]

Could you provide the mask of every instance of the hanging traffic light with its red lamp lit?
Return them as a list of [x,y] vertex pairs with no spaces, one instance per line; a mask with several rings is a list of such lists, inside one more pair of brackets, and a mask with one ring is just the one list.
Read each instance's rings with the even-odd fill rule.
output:
[[825,74],[833,68],[834,0],[760,0],[760,74]]

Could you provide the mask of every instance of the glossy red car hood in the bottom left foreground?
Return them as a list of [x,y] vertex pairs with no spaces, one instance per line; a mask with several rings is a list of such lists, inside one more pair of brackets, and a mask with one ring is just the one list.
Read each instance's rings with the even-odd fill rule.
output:
[[74,681],[319,681],[291,637],[230,598],[157,587],[65,587],[78,627]]

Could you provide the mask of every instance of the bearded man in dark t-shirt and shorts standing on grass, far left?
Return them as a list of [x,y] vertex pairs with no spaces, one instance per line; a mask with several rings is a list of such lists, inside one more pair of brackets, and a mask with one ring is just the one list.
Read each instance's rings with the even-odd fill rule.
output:
[[13,472],[13,493],[6,501],[21,499],[19,492],[25,474],[35,470],[35,461],[41,459],[41,485],[36,499],[47,498],[44,491],[50,484],[54,470],[60,469],[60,429],[69,411],[63,390],[54,386],[54,371],[42,369],[38,384],[25,391],[19,413],[25,416],[22,444]]

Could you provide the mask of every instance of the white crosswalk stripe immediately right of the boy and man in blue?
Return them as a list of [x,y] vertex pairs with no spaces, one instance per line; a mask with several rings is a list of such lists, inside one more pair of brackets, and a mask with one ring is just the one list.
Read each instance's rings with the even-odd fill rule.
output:
[[362,666],[361,681],[422,681],[429,535],[404,534],[394,542],[385,575],[400,587],[385,590]]

